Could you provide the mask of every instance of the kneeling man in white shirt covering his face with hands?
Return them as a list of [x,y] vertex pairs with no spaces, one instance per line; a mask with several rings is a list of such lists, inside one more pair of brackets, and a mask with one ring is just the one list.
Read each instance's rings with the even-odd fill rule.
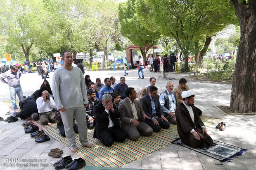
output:
[[46,90],[42,92],[41,97],[36,99],[36,106],[39,113],[40,122],[43,125],[47,125],[49,122],[58,122],[56,119],[54,119],[54,112],[52,111],[56,108],[55,101]]

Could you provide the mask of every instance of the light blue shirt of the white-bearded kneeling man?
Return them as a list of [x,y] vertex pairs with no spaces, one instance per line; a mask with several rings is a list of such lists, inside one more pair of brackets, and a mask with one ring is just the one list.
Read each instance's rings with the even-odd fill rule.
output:
[[160,102],[160,105],[162,106],[163,112],[169,114],[170,112],[175,112],[176,104],[175,104],[175,97],[174,97],[173,93],[171,94],[170,92],[168,92],[168,90],[166,90],[166,91],[168,93],[168,98],[169,98],[169,108],[164,107],[165,100],[164,100],[163,93],[159,97],[159,102]]

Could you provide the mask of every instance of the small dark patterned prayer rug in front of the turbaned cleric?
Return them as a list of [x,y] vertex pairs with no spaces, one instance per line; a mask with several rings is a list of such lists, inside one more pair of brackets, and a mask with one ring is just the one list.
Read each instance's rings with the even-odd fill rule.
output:
[[202,148],[193,148],[185,145],[181,142],[180,138],[177,138],[172,143],[182,145],[183,147],[187,147],[201,154],[210,156],[214,159],[219,160],[220,162],[230,161],[232,160],[230,158],[242,155],[243,152],[247,151],[247,149],[242,149],[240,147],[229,145],[223,142],[218,142],[217,140],[213,140],[213,145],[205,146]]

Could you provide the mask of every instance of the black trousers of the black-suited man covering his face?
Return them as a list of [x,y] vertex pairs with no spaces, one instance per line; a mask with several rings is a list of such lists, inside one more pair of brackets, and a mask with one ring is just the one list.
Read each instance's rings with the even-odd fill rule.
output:
[[123,131],[116,126],[107,129],[107,132],[101,142],[103,145],[111,146],[114,140],[117,142],[123,142],[126,140],[125,133],[123,133]]

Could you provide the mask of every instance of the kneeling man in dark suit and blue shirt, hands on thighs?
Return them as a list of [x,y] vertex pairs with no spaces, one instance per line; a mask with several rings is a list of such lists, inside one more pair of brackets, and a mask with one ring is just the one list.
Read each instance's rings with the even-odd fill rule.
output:
[[145,123],[152,127],[153,131],[159,132],[161,128],[168,129],[170,127],[170,123],[164,117],[164,113],[159,102],[157,87],[151,86],[149,88],[149,94],[145,95],[141,99],[141,106],[144,113],[150,117],[150,119],[145,119]]

